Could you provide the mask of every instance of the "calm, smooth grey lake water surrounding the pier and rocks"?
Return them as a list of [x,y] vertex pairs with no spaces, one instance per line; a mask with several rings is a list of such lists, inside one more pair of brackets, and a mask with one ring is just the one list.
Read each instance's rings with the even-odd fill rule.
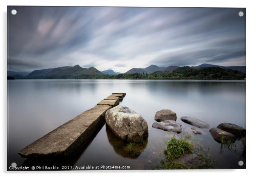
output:
[[[15,162],[17,166],[115,165],[154,169],[169,138],[168,132],[151,127],[155,112],[162,109],[176,112],[184,133],[190,127],[180,120],[184,115],[199,118],[212,127],[230,122],[245,128],[245,81],[9,80],[7,85],[8,166]],[[126,93],[120,104],[135,110],[148,123],[148,143],[137,157],[123,151],[124,143],[105,124],[69,158],[38,160],[17,154],[34,140],[118,92]],[[245,161],[241,150],[221,150],[208,129],[203,131],[204,135],[194,136],[205,149],[210,149],[216,168],[245,168],[238,166],[239,160]],[[236,144],[240,147],[242,143]]]

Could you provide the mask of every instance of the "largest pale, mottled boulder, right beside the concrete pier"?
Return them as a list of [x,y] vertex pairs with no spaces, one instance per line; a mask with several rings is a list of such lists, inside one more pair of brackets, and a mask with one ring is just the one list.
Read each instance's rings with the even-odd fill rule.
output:
[[106,112],[106,123],[120,139],[140,142],[148,138],[148,124],[134,110],[119,105]]

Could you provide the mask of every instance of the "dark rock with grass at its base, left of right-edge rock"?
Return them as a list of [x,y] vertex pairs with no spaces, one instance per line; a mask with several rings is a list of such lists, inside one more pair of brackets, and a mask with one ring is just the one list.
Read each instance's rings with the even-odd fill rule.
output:
[[218,141],[219,143],[225,143],[227,142],[228,140],[235,140],[236,139],[236,136],[229,133],[229,132],[226,132],[222,129],[218,129],[218,128],[211,128],[210,130],[210,134],[212,135],[212,137],[214,138],[214,140]]

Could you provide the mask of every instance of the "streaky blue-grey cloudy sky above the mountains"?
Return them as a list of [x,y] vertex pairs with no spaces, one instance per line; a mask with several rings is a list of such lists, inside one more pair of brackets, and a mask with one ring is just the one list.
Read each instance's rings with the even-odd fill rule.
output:
[[7,14],[8,70],[245,66],[245,8],[9,6]]

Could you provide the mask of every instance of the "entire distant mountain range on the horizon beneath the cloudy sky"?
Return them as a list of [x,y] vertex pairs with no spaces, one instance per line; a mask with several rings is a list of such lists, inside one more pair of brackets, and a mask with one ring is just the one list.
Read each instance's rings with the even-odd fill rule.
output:
[[[159,67],[157,65],[150,65],[145,68],[132,68],[128,70],[126,73],[170,73],[173,71],[179,70],[187,70],[187,69],[199,69],[204,67],[220,67],[223,69],[230,70],[238,70],[245,73],[245,66],[219,66],[219,65],[211,65],[211,64],[202,64],[198,66],[168,66],[168,67]],[[43,70],[34,70],[31,73],[27,74],[24,72],[14,72],[7,71],[7,76],[11,76],[14,79],[68,79],[68,78],[80,78],[81,76],[99,76],[99,75],[118,75],[119,72],[115,72],[114,70],[97,70],[95,67],[83,68],[79,65],[75,66],[63,66],[63,67],[55,67],[48,68]]]

